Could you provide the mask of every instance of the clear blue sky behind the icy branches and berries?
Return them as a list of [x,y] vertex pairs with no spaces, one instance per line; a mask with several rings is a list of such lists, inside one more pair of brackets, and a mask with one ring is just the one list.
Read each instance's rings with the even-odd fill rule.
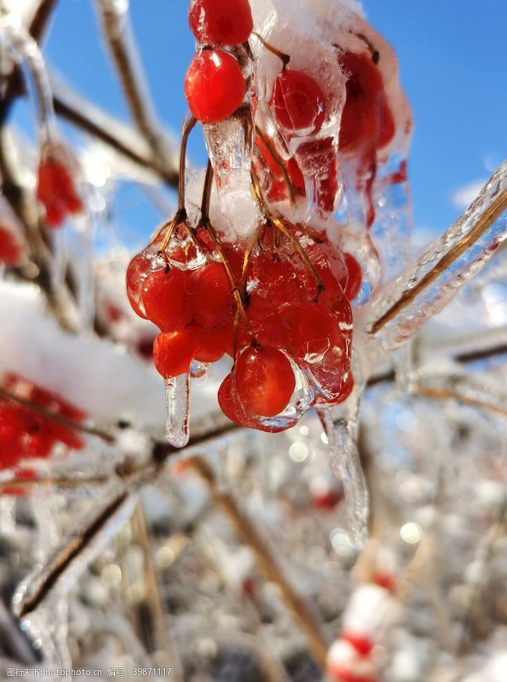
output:
[[[178,133],[186,113],[183,77],[194,49],[188,2],[131,0],[130,5],[157,113]],[[486,180],[507,156],[507,3],[492,0],[486,11],[476,0],[364,0],[364,8],[397,51],[414,111],[409,173],[415,224],[443,231],[461,212],[453,193]],[[128,120],[92,0],[61,0],[45,50],[54,70],[77,91]],[[198,139],[190,153],[203,163]],[[148,232],[154,219],[146,218]]]

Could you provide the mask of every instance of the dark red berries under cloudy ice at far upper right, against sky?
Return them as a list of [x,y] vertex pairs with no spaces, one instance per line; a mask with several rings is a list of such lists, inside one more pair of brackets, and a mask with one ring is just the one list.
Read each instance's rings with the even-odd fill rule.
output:
[[369,53],[341,55],[339,63],[348,75],[339,147],[341,151],[355,151],[370,144],[381,149],[392,140],[395,122],[380,70]]

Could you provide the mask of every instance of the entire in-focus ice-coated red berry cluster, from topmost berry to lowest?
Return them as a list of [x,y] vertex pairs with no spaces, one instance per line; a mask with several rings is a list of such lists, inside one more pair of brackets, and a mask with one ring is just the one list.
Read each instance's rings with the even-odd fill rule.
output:
[[[364,228],[372,225],[377,160],[397,121],[381,55],[362,33],[353,49],[332,44],[332,59],[315,68],[312,46],[306,63],[254,30],[248,0],[191,0],[189,23],[197,51],[184,88],[192,117],[179,207],[130,263],[128,296],[160,330],[154,359],[166,380],[228,354],[223,412],[243,426],[281,430],[353,388],[351,302],[363,272],[334,216],[348,182]],[[201,209],[189,215],[184,155],[196,122],[210,162]],[[253,229],[241,225],[251,217],[241,182]],[[223,211],[229,190],[228,207],[239,202],[232,235]]]

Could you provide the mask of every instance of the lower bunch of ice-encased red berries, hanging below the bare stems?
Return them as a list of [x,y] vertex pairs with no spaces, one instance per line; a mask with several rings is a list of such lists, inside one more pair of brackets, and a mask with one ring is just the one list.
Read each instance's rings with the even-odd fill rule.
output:
[[203,230],[197,234],[199,267],[188,269],[199,259],[192,240],[183,239],[182,225],[175,247],[161,254],[157,243],[150,245],[127,272],[133,309],[161,330],[154,347],[160,374],[176,377],[188,373],[194,360],[210,363],[229,354],[235,363],[219,390],[219,404],[233,421],[266,430],[297,420],[277,417],[301,382],[298,374],[310,385],[309,402],[338,402],[352,389],[349,299],[361,283],[359,265],[348,254],[344,259],[326,253],[295,226],[286,227],[306,245],[322,290],[290,241],[275,249],[266,230],[244,275],[244,317],[232,287],[243,280],[244,247],[225,244],[219,254]]

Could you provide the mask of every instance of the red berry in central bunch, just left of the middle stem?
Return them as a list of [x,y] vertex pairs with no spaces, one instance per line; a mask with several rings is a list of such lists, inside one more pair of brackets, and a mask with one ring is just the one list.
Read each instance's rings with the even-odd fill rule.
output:
[[197,272],[195,301],[197,323],[215,326],[232,321],[232,285],[223,263],[208,263]]

